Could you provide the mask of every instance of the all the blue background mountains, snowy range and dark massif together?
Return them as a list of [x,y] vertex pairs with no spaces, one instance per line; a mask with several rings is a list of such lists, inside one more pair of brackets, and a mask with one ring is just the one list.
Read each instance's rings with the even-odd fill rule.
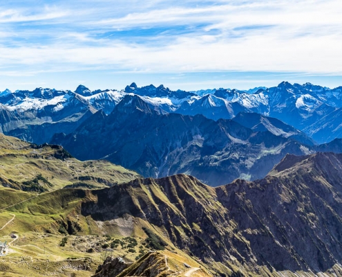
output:
[[[145,177],[193,175],[211,186],[260,179],[285,154],[341,152],[342,88],[282,82],[249,91],[35,89],[0,93],[4,134],[61,144]],[[321,147],[319,143],[324,143]],[[332,145],[333,144],[333,145]]]

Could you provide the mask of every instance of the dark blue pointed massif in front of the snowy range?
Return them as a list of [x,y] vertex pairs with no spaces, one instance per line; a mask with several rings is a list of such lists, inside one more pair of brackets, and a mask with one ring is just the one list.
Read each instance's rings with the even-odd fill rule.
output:
[[51,143],[77,159],[108,159],[145,177],[186,173],[211,186],[263,178],[285,154],[315,151],[303,132],[275,118],[240,114],[214,121],[164,114],[140,96],[126,96],[109,116],[99,111]]

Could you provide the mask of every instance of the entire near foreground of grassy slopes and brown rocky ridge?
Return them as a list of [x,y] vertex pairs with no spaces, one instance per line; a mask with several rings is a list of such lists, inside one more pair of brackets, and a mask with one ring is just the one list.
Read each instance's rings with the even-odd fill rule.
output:
[[[44,179],[65,182],[61,171],[67,168],[71,176],[82,174],[82,168],[89,176],[111,176],[104,161],[93,161],[93,172],[90,161],[84,167],[57,145],[37,147],[8,136],[0,142],[3,179],[14,176],[19,182],[25,177],[13,173],[15,166],[10,169],[20,160],[27,163],[21,166],[41,168],[37,186]],[[108,244],[115,255],[127,254],[126,263],[108,258],[95,276],[191,276],[195,271],[199,276],[341,276],[341,172],[342,154],[317,152],[287,154],[263,179],[238,179],[216,188],[189,175],[126,175],[131,181],[110,187],[94,178],[92,189],[43,184],[49,189],[39,194],[2,187],[0,208],[7,211],[0,213],[0,222],[14,221],[0,235],[19,235],[12,248],[24,256],[37,255],[15,262],[32,276],[89,272],[90,259]],[[58,262],[80,262],[80,256],[88,262],[59,267]],[[14,267],[15,256],[8,257],[1,258],[1,270],[22,276]]]

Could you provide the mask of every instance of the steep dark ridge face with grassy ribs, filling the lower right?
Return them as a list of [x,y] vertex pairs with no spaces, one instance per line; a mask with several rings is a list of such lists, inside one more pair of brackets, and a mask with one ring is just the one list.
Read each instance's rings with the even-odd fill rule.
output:
[[82,214],[139,217],[207,264],[321,272],[342,261],[341,184],[341,154],[288,155],[254,182],[211,188],[175,175],[97,190]]

